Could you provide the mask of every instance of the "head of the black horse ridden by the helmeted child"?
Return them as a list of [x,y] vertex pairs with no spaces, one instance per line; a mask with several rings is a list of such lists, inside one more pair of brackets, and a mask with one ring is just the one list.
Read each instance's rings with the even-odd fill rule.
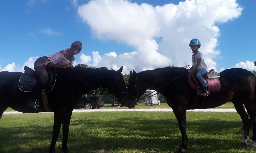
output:
[[135,102],[138,102],[138,99],[143,95],[143,93],[145,93],[146,89],[142,88],[138,80],[137,73],[134,70],[132,71],[130,71],[128,91],[130,95],[134,98]]

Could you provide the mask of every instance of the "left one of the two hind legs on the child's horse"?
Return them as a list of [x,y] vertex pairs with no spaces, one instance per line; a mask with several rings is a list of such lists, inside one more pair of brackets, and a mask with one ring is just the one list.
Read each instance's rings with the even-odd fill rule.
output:
[[[234,107],[237,111],[237,113],[240,115],[243,125],[247,125],[249,122],[249,116],[247,112],[245,111],[243,104],[241,103],[241,100],[232,100],[232,103],[234,104]],[[249,140],[249,130],[246,130],[243,132],[243,141],[241,142],[241,145],[247,146]]]

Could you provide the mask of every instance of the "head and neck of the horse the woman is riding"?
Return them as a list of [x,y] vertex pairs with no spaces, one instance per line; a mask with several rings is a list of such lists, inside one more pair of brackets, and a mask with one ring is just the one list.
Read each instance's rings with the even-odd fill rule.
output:
[[84,85],[81,89],[81,93],[104,87],[108,89],[110,94],[115,95],[115,97],[121,102],[121,105],[133,108],[135,107],[135,102],[132,101],[132,97],[127,90],[123,74],[121,73],[122,71],[123,67],[117,71],[108,70],[105,67],[75,68],[75,73],[80,78],[78,80],[83,82],[82,84]]

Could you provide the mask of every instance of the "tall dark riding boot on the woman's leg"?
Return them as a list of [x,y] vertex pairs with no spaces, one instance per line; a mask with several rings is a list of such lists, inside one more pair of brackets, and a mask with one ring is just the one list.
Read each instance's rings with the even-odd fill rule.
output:
[[39,105],[36,104],[36,100],[39,97],[39,94],[41,93],[42,88],[44,85],[41,82],[38,82],[34,86],[34,91],[30,95],[29,99],[27,100],[27,107],[33,107],[34,109],[38,109]]

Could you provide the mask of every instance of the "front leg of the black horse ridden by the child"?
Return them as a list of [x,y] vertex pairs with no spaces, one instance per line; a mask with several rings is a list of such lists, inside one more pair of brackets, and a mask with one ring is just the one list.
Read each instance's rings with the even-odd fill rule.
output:
[[187,111],[183,106],[176,106],[173,108],[173,112],[179,123],[179,130],[182,135],[182,144],[179,145],[178,152],[185,152],[188,145],[188,138],[186,133],[186,114]]

